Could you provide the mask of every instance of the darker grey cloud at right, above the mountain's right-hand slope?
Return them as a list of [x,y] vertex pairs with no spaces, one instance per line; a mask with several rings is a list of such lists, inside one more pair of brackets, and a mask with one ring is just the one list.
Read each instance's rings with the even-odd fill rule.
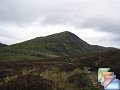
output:
[[111,18],[90,18],[83,23],[82,27],[120,34],[120,21],[115,21]]

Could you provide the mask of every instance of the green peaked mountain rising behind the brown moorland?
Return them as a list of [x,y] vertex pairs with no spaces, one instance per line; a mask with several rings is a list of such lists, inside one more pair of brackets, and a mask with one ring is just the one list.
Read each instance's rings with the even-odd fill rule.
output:
[[111,49],[90,45],[75,34],[65,31],[4,47],[0,49],[0,61],[40,60]]

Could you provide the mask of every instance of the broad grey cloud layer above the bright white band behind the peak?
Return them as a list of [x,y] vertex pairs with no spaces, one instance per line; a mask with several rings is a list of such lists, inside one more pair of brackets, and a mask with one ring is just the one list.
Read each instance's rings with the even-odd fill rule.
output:
[[[0,0],[0,25],[70,25],[109,32],[119,40],[120,0]],[[10,31],[9,31],[10,32]],[[0,36],[15,36],[0,30]],[[9,33],[9,34],[6,34]],[[14,38],[14,37],[12,37]]]

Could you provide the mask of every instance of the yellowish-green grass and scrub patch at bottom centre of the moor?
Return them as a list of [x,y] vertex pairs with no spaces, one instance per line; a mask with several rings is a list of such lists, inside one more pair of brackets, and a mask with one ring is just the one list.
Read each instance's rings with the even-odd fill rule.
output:
[[59,68],[52,67],[40,76],[53,81],[55,87],[60,90],[98,90],[93,86],[89,76],[78,68],[70,72],[60,72]]

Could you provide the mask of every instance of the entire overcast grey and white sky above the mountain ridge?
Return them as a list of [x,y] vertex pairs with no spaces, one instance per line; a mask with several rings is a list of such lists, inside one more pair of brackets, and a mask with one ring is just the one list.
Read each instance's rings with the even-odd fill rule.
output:
[[92,45],[120,48],[120,0],[0,0],[0,42],[70,31]]

